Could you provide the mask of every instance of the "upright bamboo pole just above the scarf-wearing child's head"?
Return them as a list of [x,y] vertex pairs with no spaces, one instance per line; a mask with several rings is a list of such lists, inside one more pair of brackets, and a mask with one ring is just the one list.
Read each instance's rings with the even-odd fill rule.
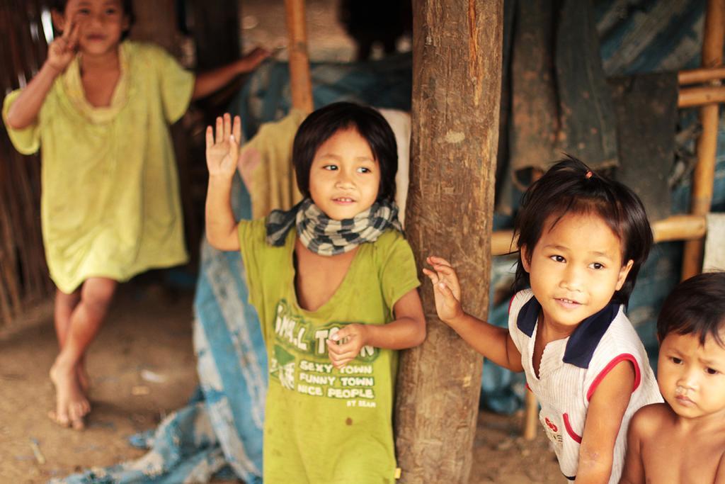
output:
[[312,102],[310,58],[307,56],[305,0],[284,0],[289,39],[289,83],[292,106],[305,112],[315,109]]

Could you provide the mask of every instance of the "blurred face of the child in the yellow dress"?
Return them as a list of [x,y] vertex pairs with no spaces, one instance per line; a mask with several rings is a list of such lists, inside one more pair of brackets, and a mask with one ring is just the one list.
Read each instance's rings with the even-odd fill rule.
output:
[[84,54],[107,54],[117,49],[130,21],[120,0],[68,0],[58,27],[78,23],[78,48]]

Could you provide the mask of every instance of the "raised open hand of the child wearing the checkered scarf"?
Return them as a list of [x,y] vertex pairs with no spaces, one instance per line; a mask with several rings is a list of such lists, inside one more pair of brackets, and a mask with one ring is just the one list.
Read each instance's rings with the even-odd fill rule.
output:
[[223,118],[217,118],[216,134],[211,126],[207,126],[207,168],[210,176],[233,176],[239,159],[240,138],[239,116],[234,116],[234,126],[228,112]]

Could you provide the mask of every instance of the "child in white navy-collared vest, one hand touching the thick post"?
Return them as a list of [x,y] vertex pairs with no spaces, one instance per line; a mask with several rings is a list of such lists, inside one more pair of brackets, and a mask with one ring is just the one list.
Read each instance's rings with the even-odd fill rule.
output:
[[431,256],[433,270],[423,272],[438,316],[486,358],[526,372],[569,480],[617,483],[629,419],[662,401],[624,314],[653,242],[645,208],[626,186],[570,157],[523,195],[515,234],[518,292],[508,329],[465,313],[452,264]]

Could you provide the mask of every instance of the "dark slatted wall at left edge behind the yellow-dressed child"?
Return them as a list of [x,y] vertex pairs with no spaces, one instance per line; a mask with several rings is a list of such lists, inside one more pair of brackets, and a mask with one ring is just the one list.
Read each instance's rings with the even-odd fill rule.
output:
[[[46,58],[40,0],[0,1],[0,91],[25,85]],[[0,327],[51,299],[40,226],[40,158],[12,147],[0,125]]]

